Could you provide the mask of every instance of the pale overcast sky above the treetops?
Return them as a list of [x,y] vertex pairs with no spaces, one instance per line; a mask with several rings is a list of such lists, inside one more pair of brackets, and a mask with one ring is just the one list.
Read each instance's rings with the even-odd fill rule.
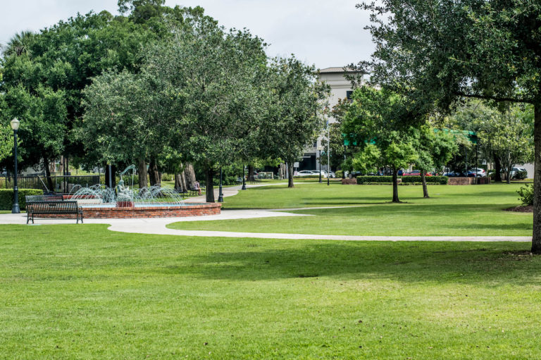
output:
[[[359,0],[167,0],[168,6],[202,6],[225,27],[247,27],[270,44],[268,54],[295,54],[318,68],[368,60],[373,44],[368,15]],[[107,10],[116,14],[117,0],[4,0],[0,44],[16,32],[40,30],[77,12]]]

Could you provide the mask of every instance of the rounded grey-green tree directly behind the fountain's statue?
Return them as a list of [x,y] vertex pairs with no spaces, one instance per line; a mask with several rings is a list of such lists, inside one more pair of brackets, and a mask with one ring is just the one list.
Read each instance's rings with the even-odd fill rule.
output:
[[[137,163],[139,187],[147,186],[147,161],[154,165],[170,144],[161,112],[180,104],[166,86],[145,72],[124,70],[95,77],[84,92],[86,111],[77,135],[98,161]],[[158,182],[151,179],[151,185]]]

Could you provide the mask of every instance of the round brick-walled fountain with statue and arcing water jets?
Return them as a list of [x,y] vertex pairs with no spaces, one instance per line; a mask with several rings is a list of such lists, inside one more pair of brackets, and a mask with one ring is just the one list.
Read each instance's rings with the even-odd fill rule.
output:
[[[123,175],[132,170],[131,189],[124,186]],[[158,218],[173,216],[200,216],[220,213],[221,204],[189,204],[168,187],[151,186],[135,189],[135,166],[120,173],[116,189],[105,185],[79,187],[66,198],[77,201],[85,218]]]

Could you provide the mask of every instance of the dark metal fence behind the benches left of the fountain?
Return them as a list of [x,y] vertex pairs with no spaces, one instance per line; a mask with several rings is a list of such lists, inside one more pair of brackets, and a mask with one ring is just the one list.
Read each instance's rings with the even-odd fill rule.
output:
[[[18,176],[19,189],[41,189],[44,192],[61,192],[68,194],[80,187],[99,184],[99,175],[58,175],[58,176]],[[13,187],[13,176],[0,178],[0,185],[8,189]]]

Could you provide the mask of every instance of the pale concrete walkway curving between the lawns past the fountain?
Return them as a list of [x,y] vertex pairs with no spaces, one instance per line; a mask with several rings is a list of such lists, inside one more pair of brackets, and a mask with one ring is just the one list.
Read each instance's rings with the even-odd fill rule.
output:
[[[334,207],[334,206],[332,206]],[[336,206],[339,207],[339,206]],[[330,208],[330,207],[329,207]],[[329,209],[328,208],[328,209]],[[213,221],[276,216],[311,216],[270,210],[223,210],[220,215],[190,216],[186,218],[86,219],[85,224],[108,224],[109,230],[154,235],[182,235],[193,237],[249,237],[257,239],[346,240],[346,241],[445,241],[445,242],[530,242],[529,236],[353,236],[310,235],[268,232],[228,232],[206,230],[175,230],[166,225],[179,221]],[[0,224],[25,224],[26,214],[0,214]],[[74,224],[74,219],[37,219],[36,225]]]

